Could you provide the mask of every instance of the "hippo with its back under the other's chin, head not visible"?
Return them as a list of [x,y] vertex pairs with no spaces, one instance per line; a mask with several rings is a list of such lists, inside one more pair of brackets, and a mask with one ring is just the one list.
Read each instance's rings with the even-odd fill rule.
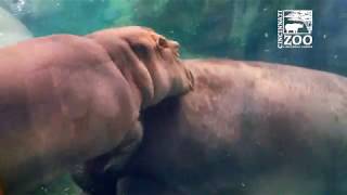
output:
[[[346,78],[260,62],[185,66],[194,91],[144,113],[144,139],[118,194],[347,193]],[[102,188],[113,172],[89,186]]]

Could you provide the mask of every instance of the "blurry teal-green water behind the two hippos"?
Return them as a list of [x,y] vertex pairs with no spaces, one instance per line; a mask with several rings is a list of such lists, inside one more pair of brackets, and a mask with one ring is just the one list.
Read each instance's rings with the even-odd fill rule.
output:
[[[0,0],[0,46],[141,25],[179,41],[183,57],[267,61],[347,76],[347,0]],[[278,10],[313,11],[311,49],[278,49]],[[79,193],[64,176],[33,194]]]

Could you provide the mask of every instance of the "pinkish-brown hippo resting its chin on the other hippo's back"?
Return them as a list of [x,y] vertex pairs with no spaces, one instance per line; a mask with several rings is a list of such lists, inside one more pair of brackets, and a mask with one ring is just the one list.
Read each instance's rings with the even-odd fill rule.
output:
[[54,35],[1,49],[4,194],[26,194],[113,150],[121,167],[142,138],[140,110],[192,87],[177,50],[175,41],[143,27]]

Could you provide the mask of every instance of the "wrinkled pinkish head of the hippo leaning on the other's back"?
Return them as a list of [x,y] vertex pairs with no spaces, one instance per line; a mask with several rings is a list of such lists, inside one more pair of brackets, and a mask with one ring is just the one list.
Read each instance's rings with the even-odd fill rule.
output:
[[179,43],[146,27],[129,26],[88,36],[105,48],[125,78],[134,83],[142,107],[189,91],[191,73],[179,60]]

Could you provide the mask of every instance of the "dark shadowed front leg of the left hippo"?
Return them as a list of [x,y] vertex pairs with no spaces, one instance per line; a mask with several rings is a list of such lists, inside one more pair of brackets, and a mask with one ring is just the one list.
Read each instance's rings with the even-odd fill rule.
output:
[[85,194],[116,194],[117,176],[142,141],[141,123],[129,132],[123,144],[112,152],[75,167],[72,172],[73,179]]

